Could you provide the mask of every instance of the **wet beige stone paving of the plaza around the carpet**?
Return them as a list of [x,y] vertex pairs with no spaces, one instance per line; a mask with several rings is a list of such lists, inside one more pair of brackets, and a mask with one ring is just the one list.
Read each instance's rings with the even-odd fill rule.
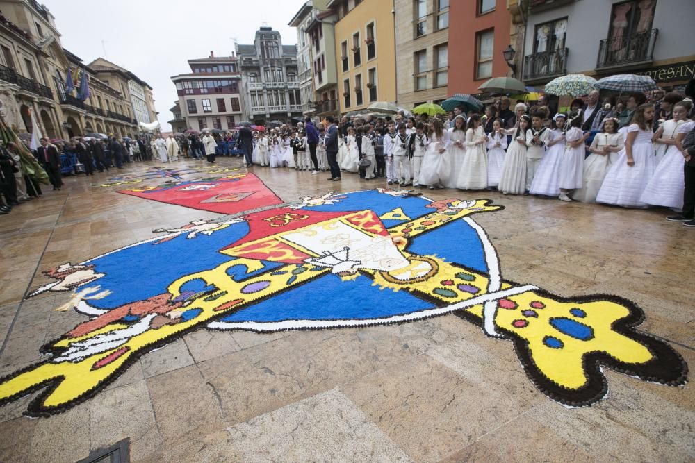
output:
[[[129,174],[155,165],[128,165]],[[181,160],[177,167],[202,165]],[[240,167],[238,158],[218,165]],[[345,174],[254,167],[284,201],[386,187]],[[60,192],[0,219],[2,376],[40,360],[40,346],[86,318],[54,310],[68,294],[22,301],[41,271],[83,262],[219,214],[65,178]],[[94,180],[96,179],[96,180]],[[156,185],[161,179],[150,180]],[[560,296],[617,294],[646,314],[640,330],[695,364],[695,233],[665,210],[626,210],[498,192],[427,191],[505,206],[475,220],[502,275]],[[133,272],[133,285],[138,274]],[[197,330],[142,356],[93,398],[49,418],[22,416],[35,396],[0,407],[0,461],[74,462],[130,439],[134,462],[688,462],[695,459],[692,385],[667,387],[605,371],[610,392],[569,409],[541,394],[512,343],[453,315],[398,326],[275,334]]]

